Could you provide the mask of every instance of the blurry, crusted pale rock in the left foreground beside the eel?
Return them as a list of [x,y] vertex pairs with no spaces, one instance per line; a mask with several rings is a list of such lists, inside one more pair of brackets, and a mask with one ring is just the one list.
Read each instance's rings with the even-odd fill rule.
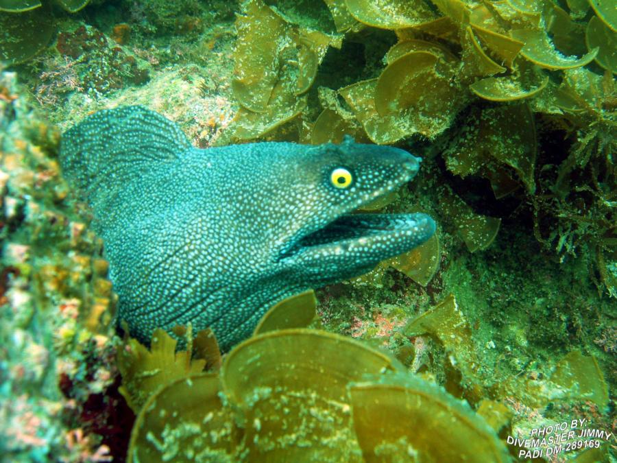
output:
[[58,130],[21,93],[0,71],[0,453],[110,461],[113,444],[93,432],[108,425],[113,399],[90,414],[116,376],[108,263],[66,201]]

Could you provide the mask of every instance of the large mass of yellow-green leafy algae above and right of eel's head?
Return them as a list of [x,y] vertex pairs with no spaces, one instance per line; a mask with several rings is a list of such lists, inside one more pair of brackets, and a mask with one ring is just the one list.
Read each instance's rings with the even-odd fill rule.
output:
[[[347,132],[378,144],[411,138],[445,145],[449,171],[486,178],[495,198],[522,198],[537,239],[560,254],[588,249],[598,285],[614,294],[607,259],[616,233],[609,205],[616,33],[606,2],[566,9],[551,0],[325,3],[335,27],[317,30],[302,19],[315,14],[304,3],[293,8],[293,18],[284,1],[243,3],[234,82],[241,110],[230,139],[268,138],[278,130],[312,143]],[[326,88],[337,80],[324,59],[344,56],[332,50],[360,43],[366,56],[378,53],[370,37],[378,42],[383,31],[396,36],[383,64]],[[346,80],[341,74],[338,82]],[[547,175],[554,161],[538,148],[555,132],[566,137],[568,154],[557,161],[556,175]],[[444,202],[461,202],[453,196],[446,193]],[[582,213],[574,202],[585,204]],[[498,219],[473,214],[455,222],[470,250],[484,249]],[[474,226],[486,227],[487,236],[476,238]]]

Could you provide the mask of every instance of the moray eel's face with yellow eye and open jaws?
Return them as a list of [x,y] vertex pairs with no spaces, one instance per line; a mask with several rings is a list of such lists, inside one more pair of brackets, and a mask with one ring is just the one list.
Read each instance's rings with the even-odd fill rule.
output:
[[[303,163],[302,207],[275,259],[312,287],[359,276],[380,261],[424,243],[435,222],[422,213],[354,213],[396,191],[420,168],[420,158],[396,147],[363,145],[346,137],[341,145],[312,147]],[[305,166],[306,167],[306,166]]]

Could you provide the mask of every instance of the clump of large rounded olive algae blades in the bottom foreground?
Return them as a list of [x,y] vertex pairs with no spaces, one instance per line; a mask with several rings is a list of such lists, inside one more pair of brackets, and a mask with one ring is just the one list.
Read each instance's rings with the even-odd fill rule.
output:
[[220,377],[198,374],[156,392],[128,458],[509,461],[468,405],[388,355],[309,329],[256,335],[226,357]]

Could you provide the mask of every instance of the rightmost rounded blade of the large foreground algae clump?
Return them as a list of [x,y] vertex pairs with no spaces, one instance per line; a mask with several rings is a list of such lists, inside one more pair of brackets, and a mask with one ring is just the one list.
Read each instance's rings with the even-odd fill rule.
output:
[[[366,462],[510,460],[481,415],[419,377],[354,383],[350,396]],[[445,423],[450,432],[444,432]]]

